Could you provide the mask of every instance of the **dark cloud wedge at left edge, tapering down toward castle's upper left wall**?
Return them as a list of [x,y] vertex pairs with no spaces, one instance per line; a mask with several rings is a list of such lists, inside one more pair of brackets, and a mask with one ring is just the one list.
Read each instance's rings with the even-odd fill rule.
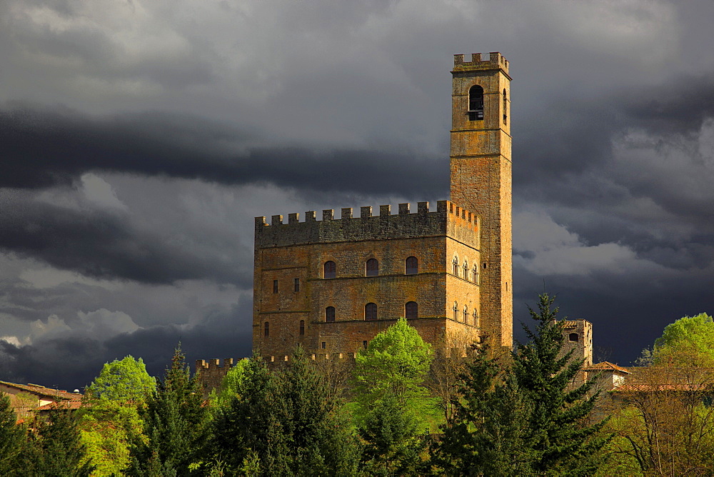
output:
[[196,256],[121,214],[71,209],[0,191],[0,250],[95,278],[174,283],[191,278],[250,287],[233,257]]

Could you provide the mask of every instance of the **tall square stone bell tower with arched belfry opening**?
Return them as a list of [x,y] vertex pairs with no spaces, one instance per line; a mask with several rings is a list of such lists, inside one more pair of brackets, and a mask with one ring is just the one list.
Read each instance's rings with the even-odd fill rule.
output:
[[498,52],[454,55],[451,201],[481,217],[481,328],[496,346],[513,344],[511,76]]

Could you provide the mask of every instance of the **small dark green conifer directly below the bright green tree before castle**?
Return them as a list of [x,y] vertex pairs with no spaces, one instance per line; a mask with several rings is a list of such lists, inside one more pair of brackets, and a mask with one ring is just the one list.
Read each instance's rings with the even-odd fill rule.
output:
[[364,441],[361,470],[370,476],[416,475],[423,466],[426,436],[413,414],[394,396],[376,403],[359,429]]

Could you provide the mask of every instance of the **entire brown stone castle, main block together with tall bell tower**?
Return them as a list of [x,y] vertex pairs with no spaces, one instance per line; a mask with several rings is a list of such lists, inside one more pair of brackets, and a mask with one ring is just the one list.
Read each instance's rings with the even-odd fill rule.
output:
[[356,353],[404,316],[445,333],[513,341],[511,76],[499,53],[454,57],[451,201],[256,218],[253,348],[285,361]]

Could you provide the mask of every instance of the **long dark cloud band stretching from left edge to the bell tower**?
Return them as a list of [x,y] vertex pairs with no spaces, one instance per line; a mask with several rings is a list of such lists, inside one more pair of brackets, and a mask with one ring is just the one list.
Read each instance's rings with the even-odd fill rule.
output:
[[[391,151],[252,146],[256,137],[213,121],[164,113],[92,119],[74,111],[16,106],[0,111],[0,186],[70,184],[87,171],[271,182],[310,191],[391,190],[439,194],[446,163]],[[434,174],[434,171],[441,173]],[[395,180],[398,179],[398,180]]]

